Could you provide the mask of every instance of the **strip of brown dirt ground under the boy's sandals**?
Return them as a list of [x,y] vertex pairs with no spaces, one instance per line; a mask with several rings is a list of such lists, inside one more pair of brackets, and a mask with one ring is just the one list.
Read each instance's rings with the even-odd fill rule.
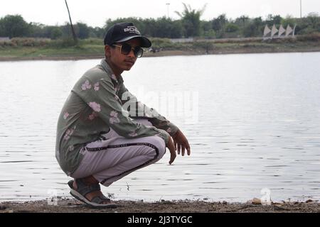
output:
[[320,213],[317,201],[284,202],[262,205],[247,203],[208,202],[208,201],[114,201],[115,209],[92,209],[75,199],[56,201],[26,201],[0,203],[0,213]]

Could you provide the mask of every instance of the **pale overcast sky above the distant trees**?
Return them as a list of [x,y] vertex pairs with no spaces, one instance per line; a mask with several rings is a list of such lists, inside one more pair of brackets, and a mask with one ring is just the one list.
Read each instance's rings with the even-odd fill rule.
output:
[[[68,21],[64,0],[1,0],[0,17],[7,14],[20,14],[27,22],[46,25],[63,25]],[[182,2],[190,4],[192,9],[202,9],[208,3],[201,19],[210,20],[221,13],[228,18],[241,15],[250,17],[267,14],[281,16],[300,16],[300,0],[68,0],[73,22],[81,21],[89,26],[105,25],[107,18],[142,17],[159,18],[169,16],[178,18],[174,11],[183,11]],[[169,4],[169,5],[168,5]],[[320,12],[320,0],[302,0],[302,15]]]

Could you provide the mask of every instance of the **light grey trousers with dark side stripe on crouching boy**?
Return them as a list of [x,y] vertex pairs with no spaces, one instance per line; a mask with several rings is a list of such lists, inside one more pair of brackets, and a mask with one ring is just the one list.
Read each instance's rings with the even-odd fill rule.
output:
[[[152,126],[146,119],[134,121]],[[158,162],[166,153],[166,145],[164,140],[156,135],[124,138],[111,128],[110,132],[102,135],[102,140],[87,144],[81,152],[84,157],[71,177],[92,175],[108,187],[129,173]]]

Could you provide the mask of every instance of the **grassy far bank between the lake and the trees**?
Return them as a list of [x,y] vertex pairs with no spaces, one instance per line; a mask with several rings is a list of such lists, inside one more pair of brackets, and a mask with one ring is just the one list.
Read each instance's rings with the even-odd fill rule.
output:
[[[255,52],[314,52],[320,51],[320,33],[296,38],[238,38],[220,40],[195,40],[192,43],[172,43],[169,39],[152,38],[156,52],[146,50],[144,56],[205,55]],[[87,59],[104,56],[102,40],[80,40],[72,45],[70,40],[14,38],[0,41],[0,60],[64,60]]]

